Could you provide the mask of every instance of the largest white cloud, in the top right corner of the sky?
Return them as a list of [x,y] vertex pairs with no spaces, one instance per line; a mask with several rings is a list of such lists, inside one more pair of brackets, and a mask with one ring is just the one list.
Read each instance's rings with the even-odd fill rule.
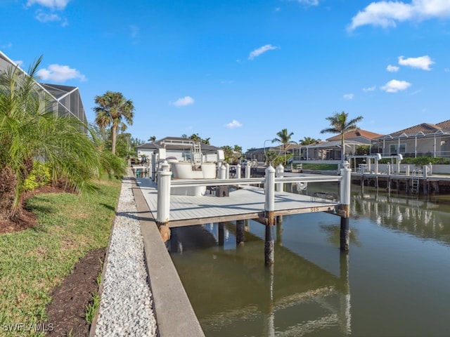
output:
[[395,27],[397,22],[407,20],[426,20],[430,18],[449,18],[450,1],[448,0],[412,0],[410,4],[403,1],[372,2],[363,11],[352,18],[348,29],[353,30],[363,25]]

